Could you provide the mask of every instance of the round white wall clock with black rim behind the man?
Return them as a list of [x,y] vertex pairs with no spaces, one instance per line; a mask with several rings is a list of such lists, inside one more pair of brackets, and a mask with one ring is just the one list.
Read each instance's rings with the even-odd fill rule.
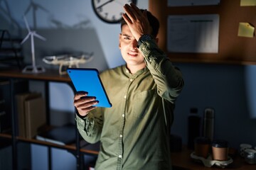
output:
[[124,4],[136,4],[137,0],[92,0],[96,15],[107,23],[119,23],[124,13]]

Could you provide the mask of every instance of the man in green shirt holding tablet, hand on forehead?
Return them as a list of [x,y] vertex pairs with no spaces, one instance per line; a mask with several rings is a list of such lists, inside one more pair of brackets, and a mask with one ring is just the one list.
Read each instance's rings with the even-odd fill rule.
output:
[[97,98],[78,91],[77,127],[87,142],[100,141],[97,170],[171,169],[169,137],[184,84],[181,71],[157,46],[159,21],[134,4],[124,11],[119,49],[126,64],[100,73],[112,108],[97,108]]

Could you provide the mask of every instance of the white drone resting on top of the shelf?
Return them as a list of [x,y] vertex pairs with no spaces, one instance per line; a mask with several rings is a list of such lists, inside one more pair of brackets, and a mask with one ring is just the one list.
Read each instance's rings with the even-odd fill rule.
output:
[[72,55],[53,55],[53,56],[46,56],[43,57],[43,62],[46,64],[54,64],[60,65],[59,67],[59,74],[67,74],[65,68],[66,67],[75,67],[79,68],[79,64],[84,64],[90,62],[93,58],[93,54],[90,55],[80,55],[80,56],[72,56]]

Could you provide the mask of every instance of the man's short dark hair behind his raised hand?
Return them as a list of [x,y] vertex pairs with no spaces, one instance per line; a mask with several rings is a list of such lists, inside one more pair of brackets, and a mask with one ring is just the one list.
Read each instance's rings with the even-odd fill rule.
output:
[[[142,13],[143,13],[145,11],[145,9],[140,9],[140,11],[142,11]],[[159,24],[159,20],[155,16],[153,16],[152,13],[149,12],[149,11],[146,11],[146,16],[147,16],[147,18],[149,20],[149,25],[152,28],[151,35],[154,36],[154,38],[156,38],[156,35],[159,32],[159,25],[160,25]],[[122,26],[124,26],[127,23],[124,21],[124,18],[122,18],[120,23],[121,23],[121,30],[122,30]]]

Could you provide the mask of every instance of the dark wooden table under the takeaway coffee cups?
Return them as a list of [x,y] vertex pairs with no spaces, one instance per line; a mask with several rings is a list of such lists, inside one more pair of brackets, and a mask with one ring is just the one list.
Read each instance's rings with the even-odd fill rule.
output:
[[[206,167],[203,163],[195,162],[191,159],[191,153],[193,150],[183,147],[181,152],[171,153],[171,162],[174,166],[174,170],[210,170],[210,169],[222,169],[217,166]],[[256,164],[247,164],[240,155],[237,155],[233,159],[233,163],[225,167],[225,169],[234,170],[256,170]]]

